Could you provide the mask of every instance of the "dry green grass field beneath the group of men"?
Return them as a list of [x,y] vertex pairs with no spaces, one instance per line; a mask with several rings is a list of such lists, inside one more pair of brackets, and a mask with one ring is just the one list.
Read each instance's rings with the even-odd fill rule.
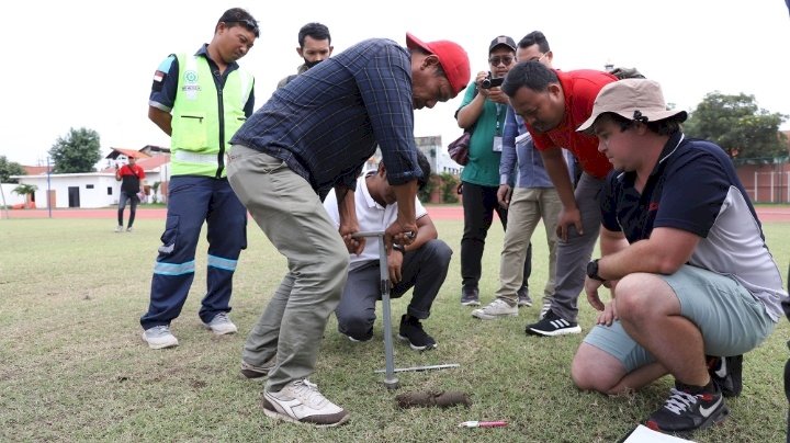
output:
[[[437,350],[416,353],[395,344],[397,367],[458,363],[459,368],[399,373],[387,390],[382,326],[374,340],[351,343],[332,317],[311,380],[348,409],[350,422],[316,430],[274,422],[260,408],[262,384],[238,375],[241,347],[285,270],[253,225],[234,282],[232,317],[239,333],[214,337],[196,316],[205,288],[205,245],[195,284],[172,323],[176,349],[151,351],[140,339],[161,220],[139,220],[134,234],[114,234],[109,219],[0,219],[0,441],[267,441],[267,442],[616,442],[659,407],[665,377],[635,395],[580,393],[569,362],[594,310],[579,300],[583,334],[528,337],[540,302],[519,317],[483,322],[459,305],[462,222],[437,222],[456,252],[426,329]],[[533,238],[533,298],[545,282],[546,247]],[[765,226],[785,274],[790,224]],[[494,226],[481,282],[492,299],[501,229]],[[409,295],[393,302],[393,322]],[[381,313],[381,310],[380,310]],[[744,391],[727,400],[730,418],[693,435],[699,442],[785,441],[788,401],[782,371],[788,322],[745,356]],[[399,410],[396,394],[461,390],[470,408]],[[506,428],[460,429],[465,420],[507,420]]]

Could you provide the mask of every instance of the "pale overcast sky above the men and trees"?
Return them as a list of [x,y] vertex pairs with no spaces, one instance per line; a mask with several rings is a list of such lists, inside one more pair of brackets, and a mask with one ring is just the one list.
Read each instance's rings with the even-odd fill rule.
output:
[[[718,90],[753,94],[760,107],[790,115],[783,0],[4,1],[0,156],[46,162],[71,127],[97,130],[103,155],[112,147],[169,146],[147,118],[154,70],[168,54],[210,42],[217,19],[233,7],[261,25],[261,37],[240,60],[256,76],[256,109],[300,65],[298,29],[318,21],[329,26],[336,54],[370,37],[405,45],[407,31],[425,41],[455,41],[470,54],[473,76],[487,68],[492,38],[506,34],[518,42],[540,30],[557,68],[636,67],[659,81],[678,109],[691,111]],[[441,135],[445,145],[454,139],[460,100],[416,111],[415,135]]]

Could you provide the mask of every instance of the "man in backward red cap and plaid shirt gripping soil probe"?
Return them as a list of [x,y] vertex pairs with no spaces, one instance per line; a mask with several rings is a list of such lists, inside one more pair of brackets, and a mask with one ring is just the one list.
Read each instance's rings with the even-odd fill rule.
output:
[[[398,203],[385,231],[387,251],[417,232],[415,197],[424,177],[414,110],[458,95],[470,67],[455,43],[411,34],[406,43],[410,50],[368,39],[321,61],[274,91],[230,140],[230,185],[289,264],[241,357],[245,376],[269,376],[269,417],[317,427],[348,419],[307,377],[340,300],[349,252],[364,249],[364,239],[352,238],[359,231],[354,188],[376,146]],[[340,234],[321,204],[332,188]]]

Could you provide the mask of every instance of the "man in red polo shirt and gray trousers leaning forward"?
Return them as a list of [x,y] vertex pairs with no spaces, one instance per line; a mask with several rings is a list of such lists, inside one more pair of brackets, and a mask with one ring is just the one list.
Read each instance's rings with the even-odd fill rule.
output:
[[[606,84],[617,77],[596,70],[557,71],[539,61],[524,61],[507,75],[503,91],[520,115],[541,151],[543,164],[560,194],[556,252],[556,286],[551,309],[538,322],[527,325],[527,333],[562,336],[579,333],[576,320],[577,299],[585,282],[585,266],[590,260],[600,228],[598,193],[612,169],[598,152],[595,136],[576,128],[592,114],[592,103]],[[583,173],[574,192],[562,157],[571,150]]]

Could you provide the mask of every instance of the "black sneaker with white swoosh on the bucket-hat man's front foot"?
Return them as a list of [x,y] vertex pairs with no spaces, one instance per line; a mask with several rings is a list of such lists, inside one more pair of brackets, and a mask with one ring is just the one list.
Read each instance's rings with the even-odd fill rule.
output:
[[[675,383],[664,406],[647,418],[645,425],[654,431],[688,434],[719,423],[726,418],[730,409],[715,383],[692,394],[690,386]],[[707,391],[707,390],[712,391]]]

